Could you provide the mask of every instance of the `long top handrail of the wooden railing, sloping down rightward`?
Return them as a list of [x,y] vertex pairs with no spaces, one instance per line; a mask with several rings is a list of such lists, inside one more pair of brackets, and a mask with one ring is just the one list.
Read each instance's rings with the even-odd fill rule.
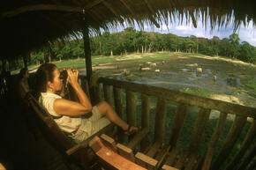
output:
[[115,85],[120,88],[125,88],[126,90],[136,89],[136,92],[145,93],[147,95],[154,95],[159,98],[169,99],[177,101],[178,103],[185,103],[189,105],[204,107],[208,109],[219,110],[223,113],[229,111],[229,114],[243,115],[247,117],[256,118],[256,108],[254,107],[245,107],[237,105],[230,102],[225,102],[221,100],[213,100],[200,96],[195,96],[185,92],[177,92],[174,90],[165,89],[162,87],[150,86],[150,85],[141,85],[132,82],[123,82],[111,78],[99,78],[99,82],[108,85]]

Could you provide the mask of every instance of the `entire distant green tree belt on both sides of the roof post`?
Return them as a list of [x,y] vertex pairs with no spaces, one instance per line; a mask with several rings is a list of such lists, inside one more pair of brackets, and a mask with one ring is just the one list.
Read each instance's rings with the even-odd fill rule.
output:
[[[27,65],[84,57],[83,40],[56,41],[23,57]],[[256,63],[256,48],[248,42],[240,43],[237,33],[222,40],[214,36],[208,40],[196,36],[179,37],[172,33],[136,31],[132,27],[118,33],[102,33],[91,38],[92,55],[126,55],[128,53],[151,53],[177,51],[202,55],[221,55],[247,63]],[[7,63],[7,64],[5,64]],[[2,70],[23,67],[22,59],[0,63]],[[6,66],[7,65],[7,66]],[[7,69],[6,69],[7,68]]]

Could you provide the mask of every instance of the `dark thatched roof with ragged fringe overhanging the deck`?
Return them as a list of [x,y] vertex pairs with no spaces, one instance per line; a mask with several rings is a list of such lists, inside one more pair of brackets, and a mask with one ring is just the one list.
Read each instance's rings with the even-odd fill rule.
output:
[[[1,58],[16,57],[47,41],[78,33],[134,24],[159,26],[176,17],[197,25],[201,16],[212,27],[225,26],[234,17],[234,29],[252,20],[254,0],[9,0],[1,5]],[[201,13],[201,15],[200,15]]]

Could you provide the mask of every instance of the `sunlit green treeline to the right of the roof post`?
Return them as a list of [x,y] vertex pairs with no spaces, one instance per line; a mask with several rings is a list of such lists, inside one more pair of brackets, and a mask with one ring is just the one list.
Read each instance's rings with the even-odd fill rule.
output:
[[204,55],[222,55],[230,58],[256,63],[256,48],[248,42],[240,43],[237,33],[220,40],[198,38],[196,36],[179,37],[172,33],[151,33],[136,31],[132,27],[118,33],[103,33],[92,39],[93,55],[124,55],[130,52],[150,53],[157,51],[177,51],[200,53]]

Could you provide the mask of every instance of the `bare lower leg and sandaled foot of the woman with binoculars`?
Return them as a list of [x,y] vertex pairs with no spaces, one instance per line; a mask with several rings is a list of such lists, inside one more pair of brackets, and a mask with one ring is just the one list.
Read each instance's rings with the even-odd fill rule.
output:
[[[126,130],[128,129],[129,125],[124,122],[116,113],[116,111],[107,103],[106,101],[102,101],[101,103],[97,104],[98,109],[100,110],[102,115],[106,115],[110,122],[114,122],[120,128]],[[132,126],[130,131],[138,130],[138,128]]]

